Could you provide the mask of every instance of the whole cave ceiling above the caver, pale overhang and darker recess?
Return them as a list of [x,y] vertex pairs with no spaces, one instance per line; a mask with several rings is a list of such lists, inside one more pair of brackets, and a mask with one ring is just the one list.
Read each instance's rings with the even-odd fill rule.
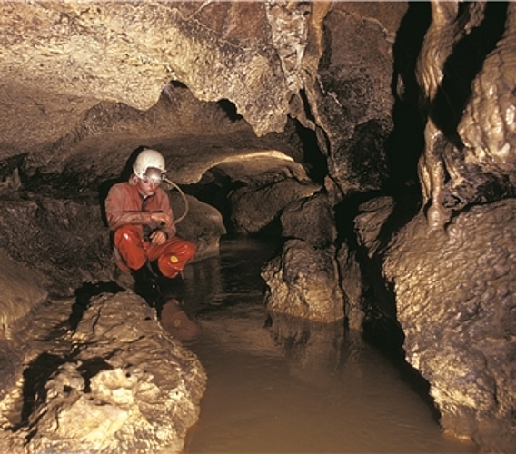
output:
[[0,9],[4,179],[23,157],[28,177],[81,175],[88,186],[151,146],[165,154],[172,178],[195,183],[219,161],[263,150],[263,166],[269,151],[297,153],[283,133],[290,94],[260,3]]

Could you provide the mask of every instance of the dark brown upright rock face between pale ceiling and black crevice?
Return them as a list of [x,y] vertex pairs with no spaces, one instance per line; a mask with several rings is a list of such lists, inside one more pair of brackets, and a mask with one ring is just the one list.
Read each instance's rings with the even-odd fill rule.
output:
[[382,24],[401,20],[406,5],[390,5],[390,18],[357,10],[337,3],[324,18],[319,84],[307,92],[329,174],[344,193],[377,189],[387,176],[384,143],[393,127],[394,99],[392,78],[385,74],[391,73],[394,30]]

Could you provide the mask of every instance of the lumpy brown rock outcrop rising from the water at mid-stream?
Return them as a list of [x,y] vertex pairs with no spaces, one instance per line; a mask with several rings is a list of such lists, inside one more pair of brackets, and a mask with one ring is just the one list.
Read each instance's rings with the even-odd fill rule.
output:
[[332,323],[347,315],[335,261],[332,203],[327,192],[316,192],[283,210],[283,250],[262,271],[265,304],[273,318],[283,314]]

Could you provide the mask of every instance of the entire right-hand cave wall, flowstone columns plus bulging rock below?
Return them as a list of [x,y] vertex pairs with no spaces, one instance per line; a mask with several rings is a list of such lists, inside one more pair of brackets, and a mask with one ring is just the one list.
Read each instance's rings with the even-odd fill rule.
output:
[[442,426],[496,452],[516,445],[515,15],[512,3],[432,2],[418,64],[423,209],[383,262]]

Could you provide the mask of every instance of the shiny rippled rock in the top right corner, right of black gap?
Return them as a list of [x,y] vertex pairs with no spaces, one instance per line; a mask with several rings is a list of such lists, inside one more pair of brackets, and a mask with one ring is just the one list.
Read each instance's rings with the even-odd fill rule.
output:
[[[458,175],[449,186],[468,202],[486,199],[484,185],[493,188],[494,197],[516,192],[516,94],[511,89],[516,83],[515,50],[516,8],[510,3],[505,32],[475,77],[471,101],[458,125],[465,168],[457,166]],[[471,178],[477,173],[483,175]]]

